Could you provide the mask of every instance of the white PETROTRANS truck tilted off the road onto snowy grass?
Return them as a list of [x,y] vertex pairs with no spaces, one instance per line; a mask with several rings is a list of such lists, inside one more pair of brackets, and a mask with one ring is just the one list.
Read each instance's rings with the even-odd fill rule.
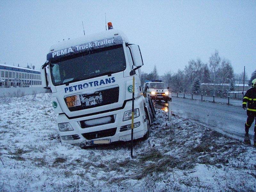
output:
[[133,138],[149,136],[154,109],[142,94],[140,48],[108,24],[111,30],[54,44],[42,66],[42,84],[52,91],[62,143],[131,140],[133,76]]

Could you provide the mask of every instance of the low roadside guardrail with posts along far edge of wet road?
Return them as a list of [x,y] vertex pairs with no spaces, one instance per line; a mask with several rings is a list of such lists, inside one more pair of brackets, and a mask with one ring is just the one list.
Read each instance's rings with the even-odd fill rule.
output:
[[195,94],[185,94],[185,93],[172,93],[172,96],[184,98],[184,99],[191,99],[191,100],[201,100],[206,102],[212,102],[212,103],[221,103],[226,105],[232,105],[232,106],[239,106],[242,107],[242,99],[235,99],[228,97],[216,97],[213,96],[206,96],[206,95],[195,95]]

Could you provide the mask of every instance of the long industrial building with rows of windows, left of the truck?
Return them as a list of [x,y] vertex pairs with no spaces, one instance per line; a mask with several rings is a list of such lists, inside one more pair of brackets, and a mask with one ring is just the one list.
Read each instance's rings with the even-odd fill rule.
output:
[[33,69],[0,64],[0,88],[40,87],[41,72]]

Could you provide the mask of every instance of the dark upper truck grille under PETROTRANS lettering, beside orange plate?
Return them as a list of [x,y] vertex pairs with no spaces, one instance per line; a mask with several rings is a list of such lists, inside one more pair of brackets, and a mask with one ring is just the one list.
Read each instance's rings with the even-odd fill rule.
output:
[[[68,107],[69,111],[78,111],[82,109],[88,109],[93,107],[99,107],[118,102],[119,87],[111,89],[105,89],[102,91],[94,92],[93,94],[81,94],[79,95],[81,105],[75,107]],[[67,103],[66,98],[64,98]],[[67,105],[68,106],[68,105]]]

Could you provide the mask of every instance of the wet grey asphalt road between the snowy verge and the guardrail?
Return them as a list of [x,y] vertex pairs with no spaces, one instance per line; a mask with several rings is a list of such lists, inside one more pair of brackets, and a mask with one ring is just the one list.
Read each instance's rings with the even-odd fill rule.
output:
[[[168,106],[167,103],[162,105]],[[161,105],[156,105],[161,108]],[[218,103],[172,97],[172,111],[183,118],[191,119],[228,136],[244,140],[244,124],[247,115],[243,108]],[[249,130],[254,136],[254,123]]]

